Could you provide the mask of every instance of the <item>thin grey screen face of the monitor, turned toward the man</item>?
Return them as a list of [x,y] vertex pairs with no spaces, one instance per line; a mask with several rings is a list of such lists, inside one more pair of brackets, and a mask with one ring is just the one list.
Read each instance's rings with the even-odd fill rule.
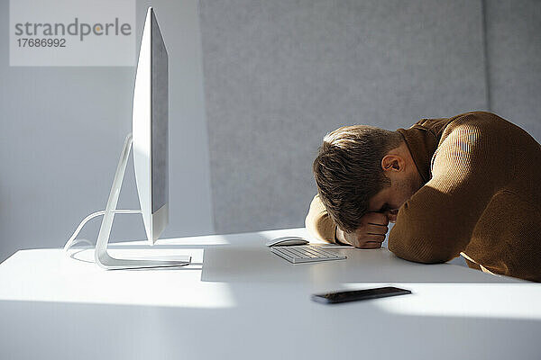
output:
[[151,176],[152,213],[168,202],[169,197],[169,83],[167,49],[156,19],[152,17],[152,126]]

